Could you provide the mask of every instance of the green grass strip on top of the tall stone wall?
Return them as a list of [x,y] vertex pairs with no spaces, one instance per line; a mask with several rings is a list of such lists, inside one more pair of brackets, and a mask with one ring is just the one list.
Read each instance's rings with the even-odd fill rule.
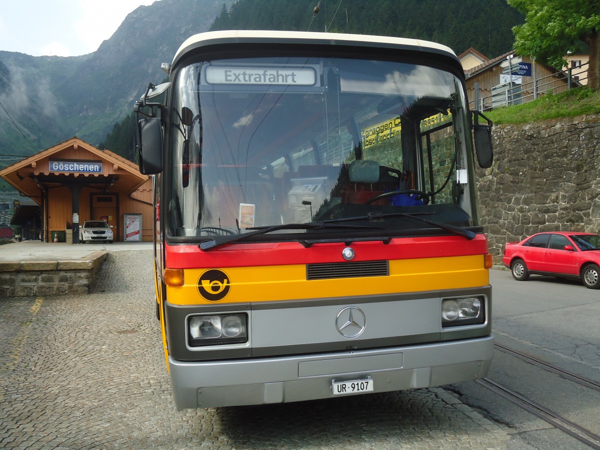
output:
[[600,91],[587,87],[569,89],[560,94],[548,92],[537,100],[485,113],[494,124],[525,124],[587,114],[600,114]]

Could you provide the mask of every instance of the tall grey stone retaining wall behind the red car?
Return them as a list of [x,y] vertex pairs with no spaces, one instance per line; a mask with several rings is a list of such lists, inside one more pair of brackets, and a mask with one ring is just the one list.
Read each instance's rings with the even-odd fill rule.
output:
[[494,264],[543,231],[600,230],[600,115],[494,125],[494,164],[478,169],[479,214]]

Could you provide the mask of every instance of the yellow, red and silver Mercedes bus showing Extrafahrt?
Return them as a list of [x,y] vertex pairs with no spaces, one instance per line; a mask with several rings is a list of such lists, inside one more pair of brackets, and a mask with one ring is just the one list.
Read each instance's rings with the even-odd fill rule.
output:
[[491,122],[452,50],[218,31],[163,69],[135,109],[177,409],[485,376]]

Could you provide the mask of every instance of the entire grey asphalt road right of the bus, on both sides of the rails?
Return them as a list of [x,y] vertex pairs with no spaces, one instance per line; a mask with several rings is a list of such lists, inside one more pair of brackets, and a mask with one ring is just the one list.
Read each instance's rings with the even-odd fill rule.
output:
[[[491,282],[496,343],[600,382],[600,291],[535,275],[515,281],[509,271],[498,270],[491,272]],[[600,434],[598,392],[498,350],[488,379]],[[589,448],[478,383],[451,389],[465,404],[509,427],[508,448]]]

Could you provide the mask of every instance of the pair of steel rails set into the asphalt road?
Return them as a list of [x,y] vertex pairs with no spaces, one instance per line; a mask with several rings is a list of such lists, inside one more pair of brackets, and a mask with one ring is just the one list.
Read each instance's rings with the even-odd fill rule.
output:
[[[509,355],[515,356],[516,358],[523,359],[523,361],[529,362],[529,364],[536,365],[537,367],[544,368],[544,370],[548,370],[550,372],[559,374],[560,376],[572,380],[573,382],[579,383],[586,388],[593,389],[595,391],[600,392],[600,383],[595,382],[586,377],[579,376],[578,374],[572,373],[571,371],[564,370],[562,368],[557,367],[553,364],[548,364],[545,361],[541,361],[541,359],[535,358],[534,356],[526,355],[525,353],[517,352],[516,350],[509,349],[508,347],[502,346],[501,344],[494,344],[496,349],[501,352],[508,353]],[[574,437],[578,441],[588,445],[590,448],[600,450],[600,435],[594,433],[593,431],[588,430],[587,428],[582,427],[575,422],[566,419],[559,413],[556,413],[542,404],[533,401],[524,395],[521,395],[519,392],[516,392],[506,386],[501,385],[500,383],[494,382],[489,378],[484,378],[482,380],[477,380],[477,382],[484,386],[487,389],[495,392],[496,394],[501,395],[506,400],[511,401],[517,406],[527,410],[538,418],[541,418],[548,424],[556,427],[559,430],[564,431],[569,434],[569,436]]]

